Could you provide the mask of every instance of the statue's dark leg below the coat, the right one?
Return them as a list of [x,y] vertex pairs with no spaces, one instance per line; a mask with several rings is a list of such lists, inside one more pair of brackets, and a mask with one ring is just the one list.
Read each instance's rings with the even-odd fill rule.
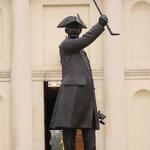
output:
[[96,137],[94,129],[82,129],[84,150],[96,150]]

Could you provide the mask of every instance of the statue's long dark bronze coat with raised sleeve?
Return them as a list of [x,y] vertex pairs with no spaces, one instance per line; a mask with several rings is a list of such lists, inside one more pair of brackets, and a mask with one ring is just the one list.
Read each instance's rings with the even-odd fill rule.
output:
[[82,37],[66,38],[60,44],[62,85],[50,128],[99,129],[91,67],[83,49],[103,31],[103,26],[97,23]]

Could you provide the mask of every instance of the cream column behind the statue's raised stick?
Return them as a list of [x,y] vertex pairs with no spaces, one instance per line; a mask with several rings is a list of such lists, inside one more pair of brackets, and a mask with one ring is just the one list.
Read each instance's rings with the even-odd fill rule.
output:
[[[104,0],[105,14],[113,32],[104,36],[105,150],[127,150],[122,47],[122,0]],[[106,29],[107,30],[107,29]]]

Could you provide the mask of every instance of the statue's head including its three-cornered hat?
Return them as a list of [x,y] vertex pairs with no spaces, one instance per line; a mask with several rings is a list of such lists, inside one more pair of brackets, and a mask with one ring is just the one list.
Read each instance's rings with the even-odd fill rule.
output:
[[87,28],[79,15],[66,17],[57,27],[65,28],[65,32],[68,34],[69,38],[78,38],[82,28]]

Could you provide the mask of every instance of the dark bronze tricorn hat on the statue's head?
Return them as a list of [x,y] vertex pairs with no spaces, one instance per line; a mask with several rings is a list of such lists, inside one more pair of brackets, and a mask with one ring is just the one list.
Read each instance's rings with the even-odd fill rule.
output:
[[87,28],[85,23],[81,20],[79,14],[77,14],[77,16],[66,17],[58,24],[57,28],[65,28],[66,26],[72,23],[77,23],[81,25],[82,28]]

